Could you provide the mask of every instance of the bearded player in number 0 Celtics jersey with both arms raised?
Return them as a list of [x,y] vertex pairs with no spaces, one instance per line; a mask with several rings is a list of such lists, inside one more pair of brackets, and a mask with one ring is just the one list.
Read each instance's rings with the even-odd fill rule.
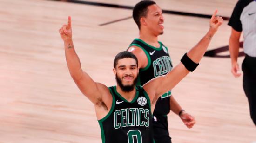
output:
[[[212,36],[223,19],[210,20],[209,32],[188,53],[181,63],[168,74],[153,78],[143,86],[135,86],[138,77],[138,60],[131,52],[120,52],[115,56],[113,72],[116,86],[107,87],[95,82],[81,69],[80,60],[74,50],[71,18],[59,29],[64,41],[67,67],[75,84],[94,104],[96,117],[101,127],[102,143],[153,143],[152,112],[157,99],[169,91],[189,71],[194,71],[205,53]],[[136,140],[136,141],[135,141]]]

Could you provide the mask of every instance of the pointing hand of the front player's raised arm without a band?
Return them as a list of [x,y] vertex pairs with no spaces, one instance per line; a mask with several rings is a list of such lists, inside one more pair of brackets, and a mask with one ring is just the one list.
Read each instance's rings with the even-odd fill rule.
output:
[[61,38],[65,40],[72,39],[72,28],[71,28],[71,17],[68,16],[68,21],[67,25],[64,24],[60,29],[59,29]]

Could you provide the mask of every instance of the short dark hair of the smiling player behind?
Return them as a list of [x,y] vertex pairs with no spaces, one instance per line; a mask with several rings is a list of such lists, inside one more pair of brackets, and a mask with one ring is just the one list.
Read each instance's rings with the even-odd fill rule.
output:
[[155,1],[152,0],[142,0],[138,2],[135,7],[133,8],[133,19],[139,29],[141,29],[141,22],[140,19],[143,16],[147,16],[148,6],[156,4]]

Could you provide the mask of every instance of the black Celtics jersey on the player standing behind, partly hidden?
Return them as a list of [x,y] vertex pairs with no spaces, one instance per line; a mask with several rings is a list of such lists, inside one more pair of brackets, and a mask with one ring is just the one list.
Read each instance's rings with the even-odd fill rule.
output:
[[[168,48],[162,42],[158,43],[160,47],[156,48],[148,45],[141,39],[134,39],[129,46],[140,47],[148,57],[148,65],[140,69],[138,85],[143,85],[152,78],[165,75],[173,68],[171,58],[168,54]],[[171,91],[168,91],[159,97],[155,105],[154,115],[167,115],[170,112],[170,96]]]

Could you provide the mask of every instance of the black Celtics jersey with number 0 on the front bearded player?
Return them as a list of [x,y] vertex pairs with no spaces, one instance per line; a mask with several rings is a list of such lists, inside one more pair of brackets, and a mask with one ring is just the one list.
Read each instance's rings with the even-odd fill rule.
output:
[[113,101],[108,115],[98,120],[102,143],[154,143],[152,114],[148,94],[136,85],[136,95],[128,102],[109,87]]

